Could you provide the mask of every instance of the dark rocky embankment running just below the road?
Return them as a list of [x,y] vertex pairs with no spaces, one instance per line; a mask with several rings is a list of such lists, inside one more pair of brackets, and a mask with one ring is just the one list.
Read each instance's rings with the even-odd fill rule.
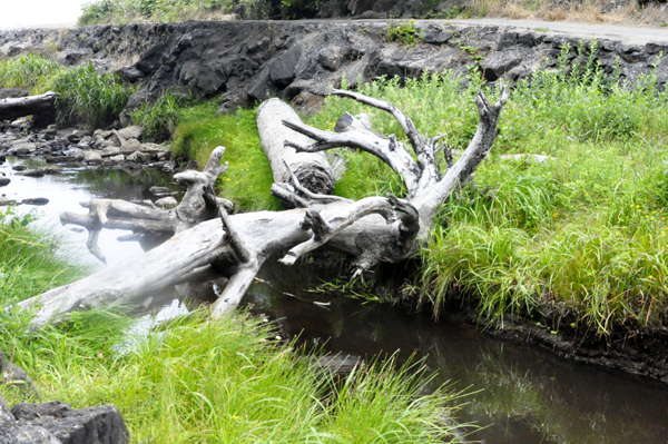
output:
[[[380,8],[380,2],[362,0],[348,7],[353,3]],[[56,49],[55,56],[63,63],[90,61],[101,71],[118,72],[138,87],[121,116],[127,125],[129,109],[155,101],[168,88],[196,98],[222,97],[220,111],[271,96],[313,107],[314,98],[338,87],[344,76],[354,86],[379,76],[418,77],[425,70],[452,70],[464,78],[478,68],[488,81],[512,83],[541,65],[554,67],[566,46],[570,46],[569,62],[577,62],[576,48],[581,45],[576,38],[551,32],[418,21],[411,24],[416,45],[406,48],[385,41],[389,26],[380,21],[209,21],[13,30],[0,32],[0,56]],[[591,43],[582,41],[586,47]],[[662,87],[668,59],[659,60],[661,52],[668,53],[668,43],[599,40],[595,56],[606,72],[617,67],[629,85],[657,65]]]

